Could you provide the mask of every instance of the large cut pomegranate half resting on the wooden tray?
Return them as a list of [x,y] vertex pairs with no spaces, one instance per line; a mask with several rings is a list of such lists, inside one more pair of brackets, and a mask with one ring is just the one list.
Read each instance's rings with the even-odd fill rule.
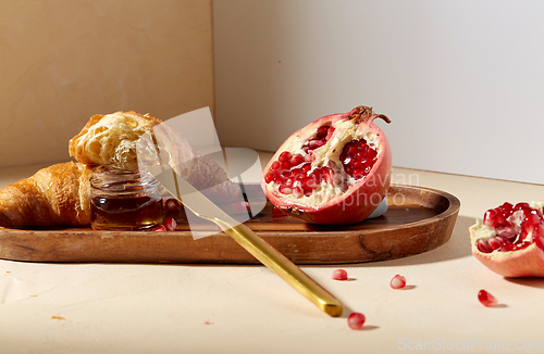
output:
[[321,117],[295,131],[263,169],[261,187],[282,212],[313,224],[362,222],[391,182],[391,147],[371,108]]

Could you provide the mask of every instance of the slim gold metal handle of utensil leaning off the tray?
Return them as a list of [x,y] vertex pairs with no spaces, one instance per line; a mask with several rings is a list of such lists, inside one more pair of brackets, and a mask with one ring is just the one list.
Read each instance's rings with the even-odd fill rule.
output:
[[316,306],[332,317],[342,315],[343,306],[341,302],[330,292],[323,289],[306,273],[300,270],[293,262],[277,252],[267,241],[255,235],[244,224],[231,227],[227,223],[210,218],[225,233],[232,237],[239,245],[248,251],[252,256],[259,260],[263,265],[272,269],[282,277],[295,290],[306,296]]

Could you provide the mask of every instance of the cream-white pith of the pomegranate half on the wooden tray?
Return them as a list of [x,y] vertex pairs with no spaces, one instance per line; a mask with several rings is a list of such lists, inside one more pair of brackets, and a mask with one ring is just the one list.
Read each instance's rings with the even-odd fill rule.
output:
[[[330,125],[330,122],[322,123],[321,126]],[[336,121],[331,124],[335,130],[329,141],[318,149],[312,151],[312,161],[311,161],[311,169],[308,172],[310,175],[316,168],[320,166],[330,166],[330,162],[333,162],[336,165],[336,168],[333,168],[333,172],[339,173],[344,170],[344,166],[341,162],[341,154],[344,146],[353,140],[360,140],[363,138],[367,140],[367,143],[370,148],[374,149],[378,152],[378,156],[380,156],[382,152],[382,147],[378,143],[376,135],[372,131],[358,131],[358,126],[351,123],[350,121]],[[306,141],[313,139],[317,135],[317,128],[313,135],[301,138],[297,136],[295,139],[288,141],[288,143],[282,148],[283,151],[289,151],[293,154],[300,154],[306,156],[307,154],[302,151],[302,146]],[[343,174],[347,177],[348,186],[353,186],[356,181],[360,181],[361,179],[355,179],[348,174]],[[366,178],[366,177],[363,177]],[[333,177],[334,179],[334,177]],[[295,181],[294,187],[297,187],[299,181]],[[282,199],[287,201],[293,201],[296,203],[307,204],[307,205],[322,205],[346,192],[345,189],[341,188],[342,186],[337,186],[336,184],[331,185],[326,181],[320,182],[313,193],[310,197],[302,195],[300,198],[296,198],[293,194],[283,194]],[[269,192],[277,191],[280,185],[272,181],[267,185],[267,189]]]

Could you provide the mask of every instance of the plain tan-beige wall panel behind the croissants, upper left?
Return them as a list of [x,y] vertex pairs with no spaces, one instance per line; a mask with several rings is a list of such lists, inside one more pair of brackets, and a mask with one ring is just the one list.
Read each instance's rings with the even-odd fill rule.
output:
[[67,161],[92,114],[213,110],[212,48],[211,1],[2,0],[0,167]]

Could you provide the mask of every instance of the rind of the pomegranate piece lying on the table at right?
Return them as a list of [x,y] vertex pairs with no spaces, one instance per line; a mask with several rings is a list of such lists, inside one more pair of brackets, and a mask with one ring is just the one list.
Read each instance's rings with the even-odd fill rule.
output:
[[483,253],[478,250],[477,241],[489,236],[490,228],[477,220],[469,232],[472,254],[492,271],[511,278],[544,277],[544,250],[536,243],[516,251]]

